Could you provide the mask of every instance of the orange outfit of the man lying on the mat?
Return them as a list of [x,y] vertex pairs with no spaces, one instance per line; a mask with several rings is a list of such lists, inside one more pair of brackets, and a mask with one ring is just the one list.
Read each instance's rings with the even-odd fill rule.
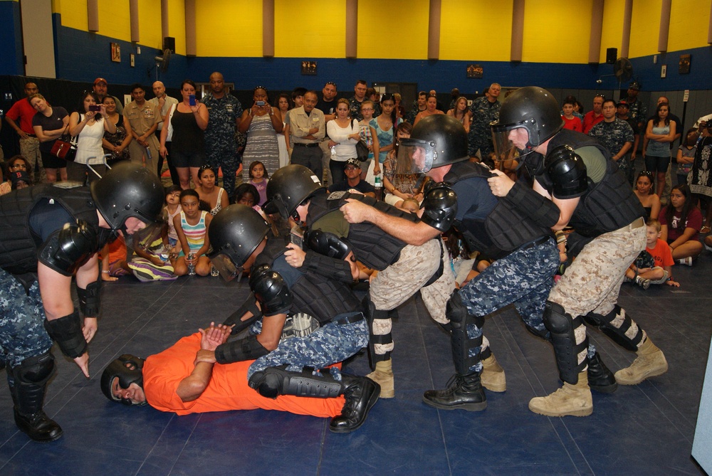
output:
[[341,414],[344,398],[307,398],[282,395],[265,398],[247,385],[247,369],[253,361],[215,364],[205,391],[194,401],[184,402],[177,395],[178,384],[194,369],[200,349],[200,334],[183,337],[168,349],[146,359],[143,387],[150,406],[179,415],[229,410],[280,410],[298,415],[332,417]]

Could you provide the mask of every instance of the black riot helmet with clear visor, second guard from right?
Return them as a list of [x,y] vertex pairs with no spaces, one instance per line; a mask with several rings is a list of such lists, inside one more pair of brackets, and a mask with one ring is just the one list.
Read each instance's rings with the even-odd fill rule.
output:
[[409,139],[400,139],[398,173],[425,173],[430,169],[468,160],[467,132],[459,120],[439,114],[424,117]]

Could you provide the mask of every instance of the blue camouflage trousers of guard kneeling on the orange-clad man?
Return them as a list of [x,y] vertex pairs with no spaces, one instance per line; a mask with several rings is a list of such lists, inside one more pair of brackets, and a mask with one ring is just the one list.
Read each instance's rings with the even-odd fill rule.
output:
[[366,319],[343,324],[338,324],[336,321],[355,314],[355,312],[340,314],[332,322],[316,329],[308,336],[283,339],[276,349],[253,362],[247,371],[247,379],[267,367],[286,364],[286,370],[298,372],[307,366],[323,369],[325,366],[348,359],[368,345]]

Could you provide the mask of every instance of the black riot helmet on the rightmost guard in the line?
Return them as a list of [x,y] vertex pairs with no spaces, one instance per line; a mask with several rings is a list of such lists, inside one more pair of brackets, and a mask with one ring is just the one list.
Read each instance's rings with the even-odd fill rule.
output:
[[[554,137],[564,127],[560,107],[550,92],[538,86],[519,88],[502,103],[499,120],[491,122],[492,141],[498,159],[511,159],[513,149],[523,156]],[[528,133],[525,144],[514,144],[509,137],[513,129]]]

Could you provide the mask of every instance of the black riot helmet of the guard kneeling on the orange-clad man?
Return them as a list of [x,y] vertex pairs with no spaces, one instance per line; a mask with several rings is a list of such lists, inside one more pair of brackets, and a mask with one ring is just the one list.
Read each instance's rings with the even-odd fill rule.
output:
[[226,281],[242,272],[242,265],[267,235],[269,225],[253,208],[236,203],[219,211],[210,222],[211,264]]

